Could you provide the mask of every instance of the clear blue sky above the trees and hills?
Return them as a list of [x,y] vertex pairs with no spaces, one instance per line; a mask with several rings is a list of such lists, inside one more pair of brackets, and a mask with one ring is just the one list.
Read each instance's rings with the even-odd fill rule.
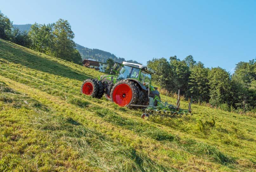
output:
[[193,55],[233,72],[256,57],[256,1],[3,1],[13,24],[66,19],[75,42],[146,64]]

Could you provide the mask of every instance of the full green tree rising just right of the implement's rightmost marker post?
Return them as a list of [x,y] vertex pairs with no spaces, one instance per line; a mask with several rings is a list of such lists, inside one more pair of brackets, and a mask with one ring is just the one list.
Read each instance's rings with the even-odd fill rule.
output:
[[209,80],[208,68],[204,68],[201,62],[191,67],[191,74],[188,78],[189,97],[193,96],[195,101],[208,102],[209,100]]

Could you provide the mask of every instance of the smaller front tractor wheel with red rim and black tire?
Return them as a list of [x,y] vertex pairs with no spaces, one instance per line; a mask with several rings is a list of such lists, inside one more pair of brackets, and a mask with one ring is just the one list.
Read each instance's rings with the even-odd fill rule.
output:
[[[83,82],[81,86],[81,93],[85,95],[89,95],[91,97],[97,97],[99,93],[99,85],[97,83],[97,79],[87,79]],[[89,87],[89,90],[86,89]]]

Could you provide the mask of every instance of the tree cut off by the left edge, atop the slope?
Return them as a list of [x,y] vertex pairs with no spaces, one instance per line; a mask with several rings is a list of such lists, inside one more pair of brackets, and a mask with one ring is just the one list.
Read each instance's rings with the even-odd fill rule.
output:
[[10,40],[12,28],[10,19],[0,11],[0,38]]

